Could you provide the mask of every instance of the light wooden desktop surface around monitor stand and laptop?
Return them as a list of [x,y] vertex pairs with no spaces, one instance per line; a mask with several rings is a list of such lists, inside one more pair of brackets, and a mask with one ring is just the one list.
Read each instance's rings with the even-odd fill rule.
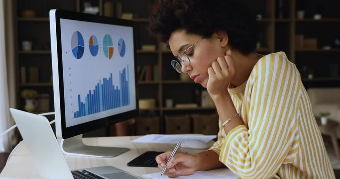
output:
[[[127,167],[126,164],[146,151],[169,151],[173,150],[176,144],[131,143],[131,140],[138,137],[140,136],[84,138],[83,141],[87,145],[127,147],[131,150],[113,158],[75,157],[67,155],[65,155],[65,158],[71,170],[113,166],[140,177],[145,174],[160,172],[157,168]],[[210,141],[210,146],[212,146],[213,143],[213,141]],[[178,151],[194,154],[205,150],[179,148]],[[0,178],[1,177],[20,179],[40,178],[32,165],[24,142],[19,144],[15,151],[13,151],[0,174]]]

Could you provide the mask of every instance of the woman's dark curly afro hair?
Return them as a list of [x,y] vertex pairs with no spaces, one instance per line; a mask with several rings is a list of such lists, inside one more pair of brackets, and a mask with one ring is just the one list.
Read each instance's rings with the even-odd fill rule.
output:
[[242,0],[161,0],[147,30],[167,42],[176,30],[205,38],[226,31],[229,44],[243,54],[255,50],[258,40],[256,15]]

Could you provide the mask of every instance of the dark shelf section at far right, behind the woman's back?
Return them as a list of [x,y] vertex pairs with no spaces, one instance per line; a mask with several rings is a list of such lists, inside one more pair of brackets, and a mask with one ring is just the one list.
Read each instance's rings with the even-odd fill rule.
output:
[[[324,2],[312,0],[305,4],[300,4],[298,0],[291,0],[291,2],[291,7],[294,9],[290,12],[292,34],[290,54],[293,57],[291,61],[300,71],[305,88],[340,87],[340,46],[332,47],[334,38],[340,30],[340,13],[333,6],[339,6],[340,3],[330,3],[327,0]],[[317,12],[317,6],[324,7],[324,10]],[[305,11],[305,18],[298,19],[297,10],[301,9]],[[323,17],[314,19],[312,18],[314,13],[322,13]],[[298,34],[303,34],[304,38],[316,38],[317,48],[296,47],[295,36]],[[340,40],[339,37],[338,39]],[[324,46],[330,46],[331,49],[324,49]],[[308,79],[306,71],[307,74],[313,74],[314,77]]]

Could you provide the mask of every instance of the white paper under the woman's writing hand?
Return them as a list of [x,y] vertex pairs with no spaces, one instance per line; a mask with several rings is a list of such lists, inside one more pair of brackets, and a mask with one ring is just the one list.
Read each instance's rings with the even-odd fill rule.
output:
[[[169,179],[168,176],[162,175],[161,173],[147,174],[144,177],[150,179]],[[215,169],[210,171],[199,171],[195,172],[190,176],[180,176],[176,179],[238,179],[229,169]]]

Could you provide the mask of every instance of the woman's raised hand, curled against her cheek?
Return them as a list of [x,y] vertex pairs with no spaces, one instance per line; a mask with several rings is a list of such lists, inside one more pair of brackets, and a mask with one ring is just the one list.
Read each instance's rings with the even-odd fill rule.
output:
[[212,67],[208,69],[208,75],[207,90],[210,96],[214,99],[226,94],[228,85],[235,75],[230,50],[227,50],[226,56],[218,57],[217,61],[212,63]]

